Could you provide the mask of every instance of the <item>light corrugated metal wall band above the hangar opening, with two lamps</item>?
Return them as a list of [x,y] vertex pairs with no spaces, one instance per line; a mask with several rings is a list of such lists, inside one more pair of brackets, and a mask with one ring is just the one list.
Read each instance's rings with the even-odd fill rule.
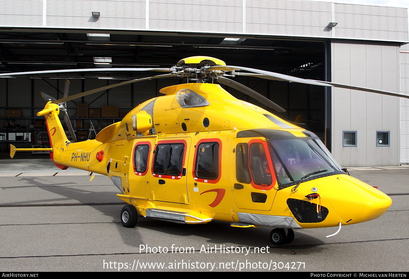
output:
[[[408,41],[406,8],[308,0],[0,0],[0,5],[0,27]],[[92,18],[92,11],[100,18]],[[338,25],[326,28],[333,21]]]

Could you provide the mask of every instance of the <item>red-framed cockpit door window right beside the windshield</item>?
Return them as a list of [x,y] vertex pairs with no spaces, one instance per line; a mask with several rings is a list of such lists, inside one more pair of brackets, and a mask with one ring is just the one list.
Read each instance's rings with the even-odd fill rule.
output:
[[268,166],[263,144],[257,142],[250,145],[249,159],[254,183],[262,186],[272,184],[270,166]]

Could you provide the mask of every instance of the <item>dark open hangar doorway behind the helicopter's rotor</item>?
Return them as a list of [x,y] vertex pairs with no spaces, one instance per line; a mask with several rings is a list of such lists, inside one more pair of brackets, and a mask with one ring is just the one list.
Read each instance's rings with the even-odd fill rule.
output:
[[[179,60],[196,55],[224,60],[227,65],[244,66],[292,75],[299,78],[325,80],[326,50],[324,41],[284,38],[238,37],[237,35],[198,35],[171,33],[120,34],[70,31],[56,33],[37,30],[0,33],[0,72],[41,71],[87,68],[170,67]],[[98,31],[101,32],[101,31]],[[0,117],[6,110],[21,110],[18,128],[34,128],[37,111],[43,108],[40,91],[56,98],[62,97],[64,80],[71,82],[70,95],[98,87],[156,75],[157,72],[82,72],[30,75],[0,79]],[[254,77],[234,78],[245,86],[265,95],[287,111],[272,113],[313,131],[324,139],[325,88],[307,84],[264,80]],[[164,78],[101,91],[67,103],[68,114],[74,122],[77,104],[89,108],[118,106],[129,111],[139,103],[160,95],[165,86],[186,80]],[[211,82],[211,81],[209,81]],[[264,107],[251,97],[222,85],[235,97]],[[265,108],[265,107],[264,107]],[[40,118],[40,117],[38,117]],[[298,118],[300,120],[301,118]],[[119,121],[112,120],[112,121]],[[26,123],[26,126],[24,124]],[[74,124],[74,123],[73,123]],[[98,123],[105,126],[108,122]],[[3,130],[6,127],[3,127]],[[9,130],[8,130],[9,131]]]

